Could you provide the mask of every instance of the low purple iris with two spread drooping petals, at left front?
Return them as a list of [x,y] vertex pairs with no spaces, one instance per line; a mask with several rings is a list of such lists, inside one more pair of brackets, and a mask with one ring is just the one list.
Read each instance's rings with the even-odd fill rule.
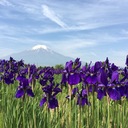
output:
[[25,96],[26,93],[28,96],[34,97],[34,93],[32,92],[31,86],[29,86],[31,80],[26,78],[18,78],[18,79],[20,81],[20,85],[17,88],[15,97],[21,98]]

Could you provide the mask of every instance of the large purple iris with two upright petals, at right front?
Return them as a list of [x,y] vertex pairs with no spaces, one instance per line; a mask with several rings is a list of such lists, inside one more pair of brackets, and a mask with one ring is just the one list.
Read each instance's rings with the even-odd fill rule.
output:
[[111,78],[108,77],[108,74],[104,69],[101,69],[101,73],[99,76],[99,83],[98,84],[98,92],[97,92],[97,98],[101,100],[104,96],[106,96],[106,93],[109,95],[109,97],[112,100],[120,100],[121,96],[123,95],[123,90],[119,91],[117,89],[116,85],[119,84],[119,73],[118,71],[113,71]]

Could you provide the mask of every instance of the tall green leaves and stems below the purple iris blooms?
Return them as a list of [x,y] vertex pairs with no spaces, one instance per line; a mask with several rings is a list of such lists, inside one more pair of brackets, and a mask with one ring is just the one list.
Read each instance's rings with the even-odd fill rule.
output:
[[[56,82],[61,76],[55,76]],[[97,99],[97,94],[89,94],[91,106],[76,105],[77,97],[68,100],[68,86],[63,86],[63,92],[58,94],[59,107],[49,110],[47,105],[39,106],[42,90],[37,82],[34,88],[35,97],[26,96],[25,100],[16,99],[15,92],[18,83],[2,85],[2,111],[0,124],[4,128],[127,128],[128,103],[126,99],[111,101],[104,97]],[[81,86],[80,84],[77,85]],[[2,127],[0,127],[2,128]]]

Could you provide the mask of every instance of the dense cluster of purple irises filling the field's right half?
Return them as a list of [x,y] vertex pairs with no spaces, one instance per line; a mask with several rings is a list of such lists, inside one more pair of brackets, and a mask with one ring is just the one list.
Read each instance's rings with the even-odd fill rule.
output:
[[[128,56],[126,66],[128,65]],[[108,58],[104,62],[96,62],[85,65],[82,68],[77,58],[74,62],[69,61],[65,65],[62,74],[62,83],[72,86],[71,97],[77,97],[77,104],[90,105],[89,93],[97,93],[97,98],[102,100],[109,96],[112,100],[121,100],[121,97],[128,98],[128,68],[119,69],[114,63],[109,63]],[[78,90],[79,84],[82,87]],[[67,96],[69,98],[69,95]]]

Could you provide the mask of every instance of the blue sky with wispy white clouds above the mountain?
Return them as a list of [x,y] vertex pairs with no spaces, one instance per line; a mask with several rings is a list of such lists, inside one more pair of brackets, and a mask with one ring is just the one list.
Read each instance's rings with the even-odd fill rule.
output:
[[37,44],[124,66],[128,0],[0,0],[0,57]]

